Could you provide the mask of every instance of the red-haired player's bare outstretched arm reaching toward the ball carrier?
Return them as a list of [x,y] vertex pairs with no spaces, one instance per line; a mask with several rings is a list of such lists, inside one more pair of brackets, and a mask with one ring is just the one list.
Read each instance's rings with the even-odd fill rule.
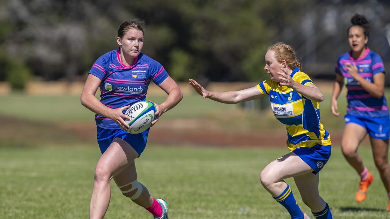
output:
[[250,101],[254,99],[258,99],[260,97],[265,96],[261,94],[257,87],[251,87],[244,90],[238,91],[226,91],[226,92],[211,92],[204,89],[199,85],[194,79],[189,79],[190,85],[196,90],[196,92],[201,95],[203,98],[209,98],[213,101],[218,101],[222,103],[238,103],[244,101]]

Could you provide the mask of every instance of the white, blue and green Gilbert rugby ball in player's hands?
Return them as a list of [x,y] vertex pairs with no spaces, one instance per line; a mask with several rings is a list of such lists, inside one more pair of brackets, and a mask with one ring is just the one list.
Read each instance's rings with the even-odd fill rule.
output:
[[150,127],[154,120],[154,113],[156,112],[156,106],[150,101],[139,101],[133,104],[124,113],[130,117],[130,120],[125,122],[130,126],[127,132],[131,134],[138,134]]

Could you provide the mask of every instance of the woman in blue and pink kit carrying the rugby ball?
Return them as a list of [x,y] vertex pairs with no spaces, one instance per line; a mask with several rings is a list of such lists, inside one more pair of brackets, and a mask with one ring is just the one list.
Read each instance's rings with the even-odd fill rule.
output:
[[[82,104],[96,113],[97,142],[102,153],[96,164],[90,219],[104,217],[110,202],[112,178],[124,196],[146,208],[155,219],[168,219],[167,203],[162,199],[155,200],[137,181],[135,159],[145,149],[149,129],[138,134],[128,133],[129,125],[125,120],[130,118],[123,113],[135,102],[145,100],[151,80],[168,94],[163,103],[155,104],[152,125],[176,106],[183,94],[160,63],[141,53],[144,45],[142,25],[142,21],[125,21],[119,26],[119,48],[96,60],[81,94]],[[95,97],[98,88],[100,101]]]

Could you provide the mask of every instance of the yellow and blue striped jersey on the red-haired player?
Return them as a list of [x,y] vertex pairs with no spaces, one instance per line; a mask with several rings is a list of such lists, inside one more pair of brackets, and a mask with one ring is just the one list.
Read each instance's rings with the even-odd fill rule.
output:
[[[307,74],[296,67],[291,78],[302,85],[313,84]],[[269,95],[273,114],[286,126],[287,147],[290,151],[297,147],[331,145],[330,135],[320,122],[319,104],[311,101],[292,88],[280,86],[271,79],[257,85],[262,94]]]

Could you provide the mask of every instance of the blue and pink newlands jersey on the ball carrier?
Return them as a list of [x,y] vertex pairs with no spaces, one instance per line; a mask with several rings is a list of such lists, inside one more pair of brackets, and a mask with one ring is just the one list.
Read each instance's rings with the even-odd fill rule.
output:
[[[144,101],[150,81],[159,85],[168,77],[160,63],[142,53],[132,65],[123,65],[119,58],[119,48],[99,57],[89,74],[101,79],[100,102],[112,109]],[[96,114],[95,120],[96,125],[104,129],[121,128],[102,115]]]

